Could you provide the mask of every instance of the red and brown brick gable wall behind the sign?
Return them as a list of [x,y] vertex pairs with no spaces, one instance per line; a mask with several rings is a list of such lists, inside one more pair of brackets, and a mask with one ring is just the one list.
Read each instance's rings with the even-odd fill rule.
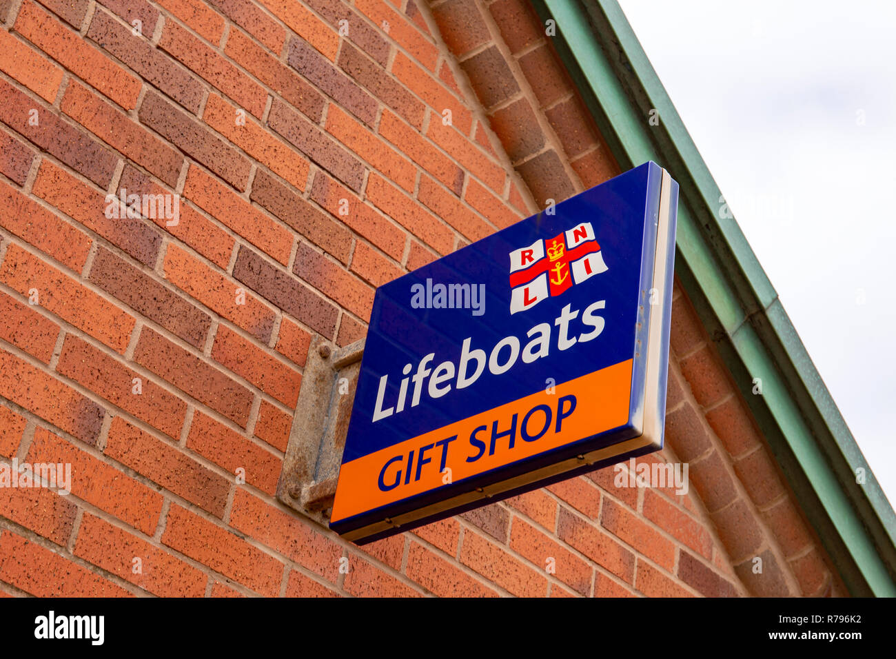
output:
[[274,499],[312,334],[618,172],[527,4],[433,5],[0,0],[0,454],[73,469],[0,488],[0,592],[841,592],[680,291],[642,461],[687,496],[608,468],[364,548]]

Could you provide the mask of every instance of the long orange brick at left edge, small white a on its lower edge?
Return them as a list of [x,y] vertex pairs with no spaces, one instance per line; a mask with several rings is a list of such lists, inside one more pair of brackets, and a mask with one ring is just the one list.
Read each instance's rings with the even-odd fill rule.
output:
[[39,304],[47,311],[119,353],[127,348],[136,324],[133,316],[21,247],[10,245],[6,250],[0,281],[25,297],[37,289]]

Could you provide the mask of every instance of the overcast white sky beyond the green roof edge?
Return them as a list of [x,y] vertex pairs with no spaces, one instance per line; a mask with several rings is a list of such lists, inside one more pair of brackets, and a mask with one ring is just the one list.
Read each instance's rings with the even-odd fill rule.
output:
[[619,1],[896,502],[896,3]]

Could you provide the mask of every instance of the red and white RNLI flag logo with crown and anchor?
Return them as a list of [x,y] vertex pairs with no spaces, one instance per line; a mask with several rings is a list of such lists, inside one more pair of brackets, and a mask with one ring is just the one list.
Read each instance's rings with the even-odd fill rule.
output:
[[607,271],[590,222],[510,253],[510,312],[525,311]]

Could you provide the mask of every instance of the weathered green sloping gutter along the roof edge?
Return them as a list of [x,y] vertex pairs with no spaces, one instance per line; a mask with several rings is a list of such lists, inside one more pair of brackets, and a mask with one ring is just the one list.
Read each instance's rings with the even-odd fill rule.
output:
[[533,4],[556,22],[557,52],[620,166],[655,160],[681,186],[676,274],[850,594],[896,596],[892,507],[737,221],[719,219],[719,186],[622,9],[616,0]]

